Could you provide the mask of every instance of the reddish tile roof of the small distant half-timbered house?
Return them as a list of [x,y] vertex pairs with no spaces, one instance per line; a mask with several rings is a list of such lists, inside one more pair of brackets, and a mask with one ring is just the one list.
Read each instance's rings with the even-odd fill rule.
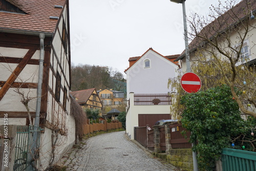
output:
[[96,91],[95,88],[70,92],[70,94],[76,98],[78,103],[86,103],[94,91]]

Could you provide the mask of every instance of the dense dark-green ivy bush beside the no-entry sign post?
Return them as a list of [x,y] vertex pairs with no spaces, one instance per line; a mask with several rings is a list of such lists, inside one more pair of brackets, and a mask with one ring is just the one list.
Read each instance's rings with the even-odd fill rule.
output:
[[192,132],[190,142],[197,142],[198,166],[215,170],[222,148],[231,147],[231,137],[245,134],[247,123],[240,116],[239,106],[232,99],[226,85],[206,91],[186,94],[181,99],[185,106],[182,125]]

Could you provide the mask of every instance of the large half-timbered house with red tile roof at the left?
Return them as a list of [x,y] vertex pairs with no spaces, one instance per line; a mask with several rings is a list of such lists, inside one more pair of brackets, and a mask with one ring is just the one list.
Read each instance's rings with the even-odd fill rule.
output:
[[[69,0],[0,0],[0,125],[8,118],[8,125],[40,126],[39,153],[31,154],[38,170],[55,164],[75,140],[70,60]],[[8,139],[13,152],[25,152],[15,134]]]

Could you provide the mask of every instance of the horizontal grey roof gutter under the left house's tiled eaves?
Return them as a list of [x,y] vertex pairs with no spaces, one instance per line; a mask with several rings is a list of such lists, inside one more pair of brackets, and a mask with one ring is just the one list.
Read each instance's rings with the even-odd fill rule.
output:
[[39,36],[40,33],[43,33],[45,34],[46,37],[53,37],[53,33],[49,33],[49,32],[6,29],[6,28],[0,28],[0,33],[14,33],[14,34],[23,34],[23,35],[33,35],[33,36]]

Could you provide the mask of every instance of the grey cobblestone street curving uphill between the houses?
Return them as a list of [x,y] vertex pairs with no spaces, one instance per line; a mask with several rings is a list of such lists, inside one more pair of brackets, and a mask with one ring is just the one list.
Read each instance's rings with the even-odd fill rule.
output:
[[[151,158],[123,132],[101,134],[82,141],[81,149],[72,148],[61,159],[67,170],[150,171],[177,170]],[[85,143],[85,144],[84,144]]]

